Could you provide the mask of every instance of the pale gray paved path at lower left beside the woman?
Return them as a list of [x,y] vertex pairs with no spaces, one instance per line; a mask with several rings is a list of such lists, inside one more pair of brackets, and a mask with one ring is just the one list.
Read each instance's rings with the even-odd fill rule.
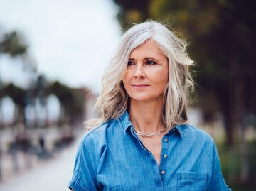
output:
[[10,180],[0,183],[1,191],[68,191],[68,182],[73,173],[78,138],[60,155],[29,172],[15,175]]

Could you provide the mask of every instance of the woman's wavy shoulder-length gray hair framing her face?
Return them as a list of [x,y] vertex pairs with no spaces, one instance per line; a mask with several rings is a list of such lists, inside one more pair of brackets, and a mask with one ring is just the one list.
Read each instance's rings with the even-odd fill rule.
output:
[[161,118],[170,128],[175,124],[186,123],[188,95],[193,89],[193,80],[188,70],[193,60],[186,53],[187,43],[163,24],[146,21],[135,24],[123,34],[110,67],[102,77],[102,91],[95,104],[100,118],[87,121],[86,126],[92,128],[109,119],[117,119],[127,111],[129,95],[124,89],[122,78],[127,71],[132,50],[149,38],[159,45],[169,60],[169,84],[164,92]]

